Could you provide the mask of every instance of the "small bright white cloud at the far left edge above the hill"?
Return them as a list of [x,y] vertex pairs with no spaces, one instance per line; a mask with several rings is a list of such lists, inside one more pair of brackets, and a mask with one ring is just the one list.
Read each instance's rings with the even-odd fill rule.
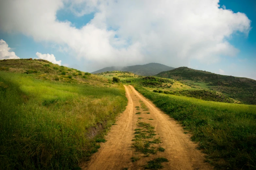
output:
[[11,48],[8,47],[8,44],[1,39],[0,40],[0,60],[4,59],[20,59],[15,52],[10,51]]

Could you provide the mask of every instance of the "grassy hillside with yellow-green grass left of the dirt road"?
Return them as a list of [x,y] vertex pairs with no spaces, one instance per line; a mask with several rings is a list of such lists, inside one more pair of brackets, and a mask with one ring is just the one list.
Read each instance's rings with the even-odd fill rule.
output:
[[0,169],[76,169],[127,104],[122,85],[78,70],[37,60],[0,68]]

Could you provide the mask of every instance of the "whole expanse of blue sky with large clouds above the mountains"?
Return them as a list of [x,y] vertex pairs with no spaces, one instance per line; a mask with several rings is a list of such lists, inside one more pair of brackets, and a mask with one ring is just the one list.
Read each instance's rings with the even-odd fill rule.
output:
[[[38,6],[31,3],[31,11],[22,18],[12,10],[17,4],[6,3],[0,7],[0,39],[20,58],[38,58],[37,52],[40,57],[53,54],[62,65],[82,71],[155,62],[256,79],[255,0],[220,0],[219,9],[214,7],[217,1],[206,0],[200,4],[205,10],[178,4],[184,11],[172,8],[177,4],[153,3],[45,1]],[[21,12],[27,9],[25,1],[18,5]],[[221,8],[233,13],[224,14]],[[13,16],[8,10],[15,11]],[[195,17],[188,19],[192,14]],[[215,17],[204,23],[205,15]]]

